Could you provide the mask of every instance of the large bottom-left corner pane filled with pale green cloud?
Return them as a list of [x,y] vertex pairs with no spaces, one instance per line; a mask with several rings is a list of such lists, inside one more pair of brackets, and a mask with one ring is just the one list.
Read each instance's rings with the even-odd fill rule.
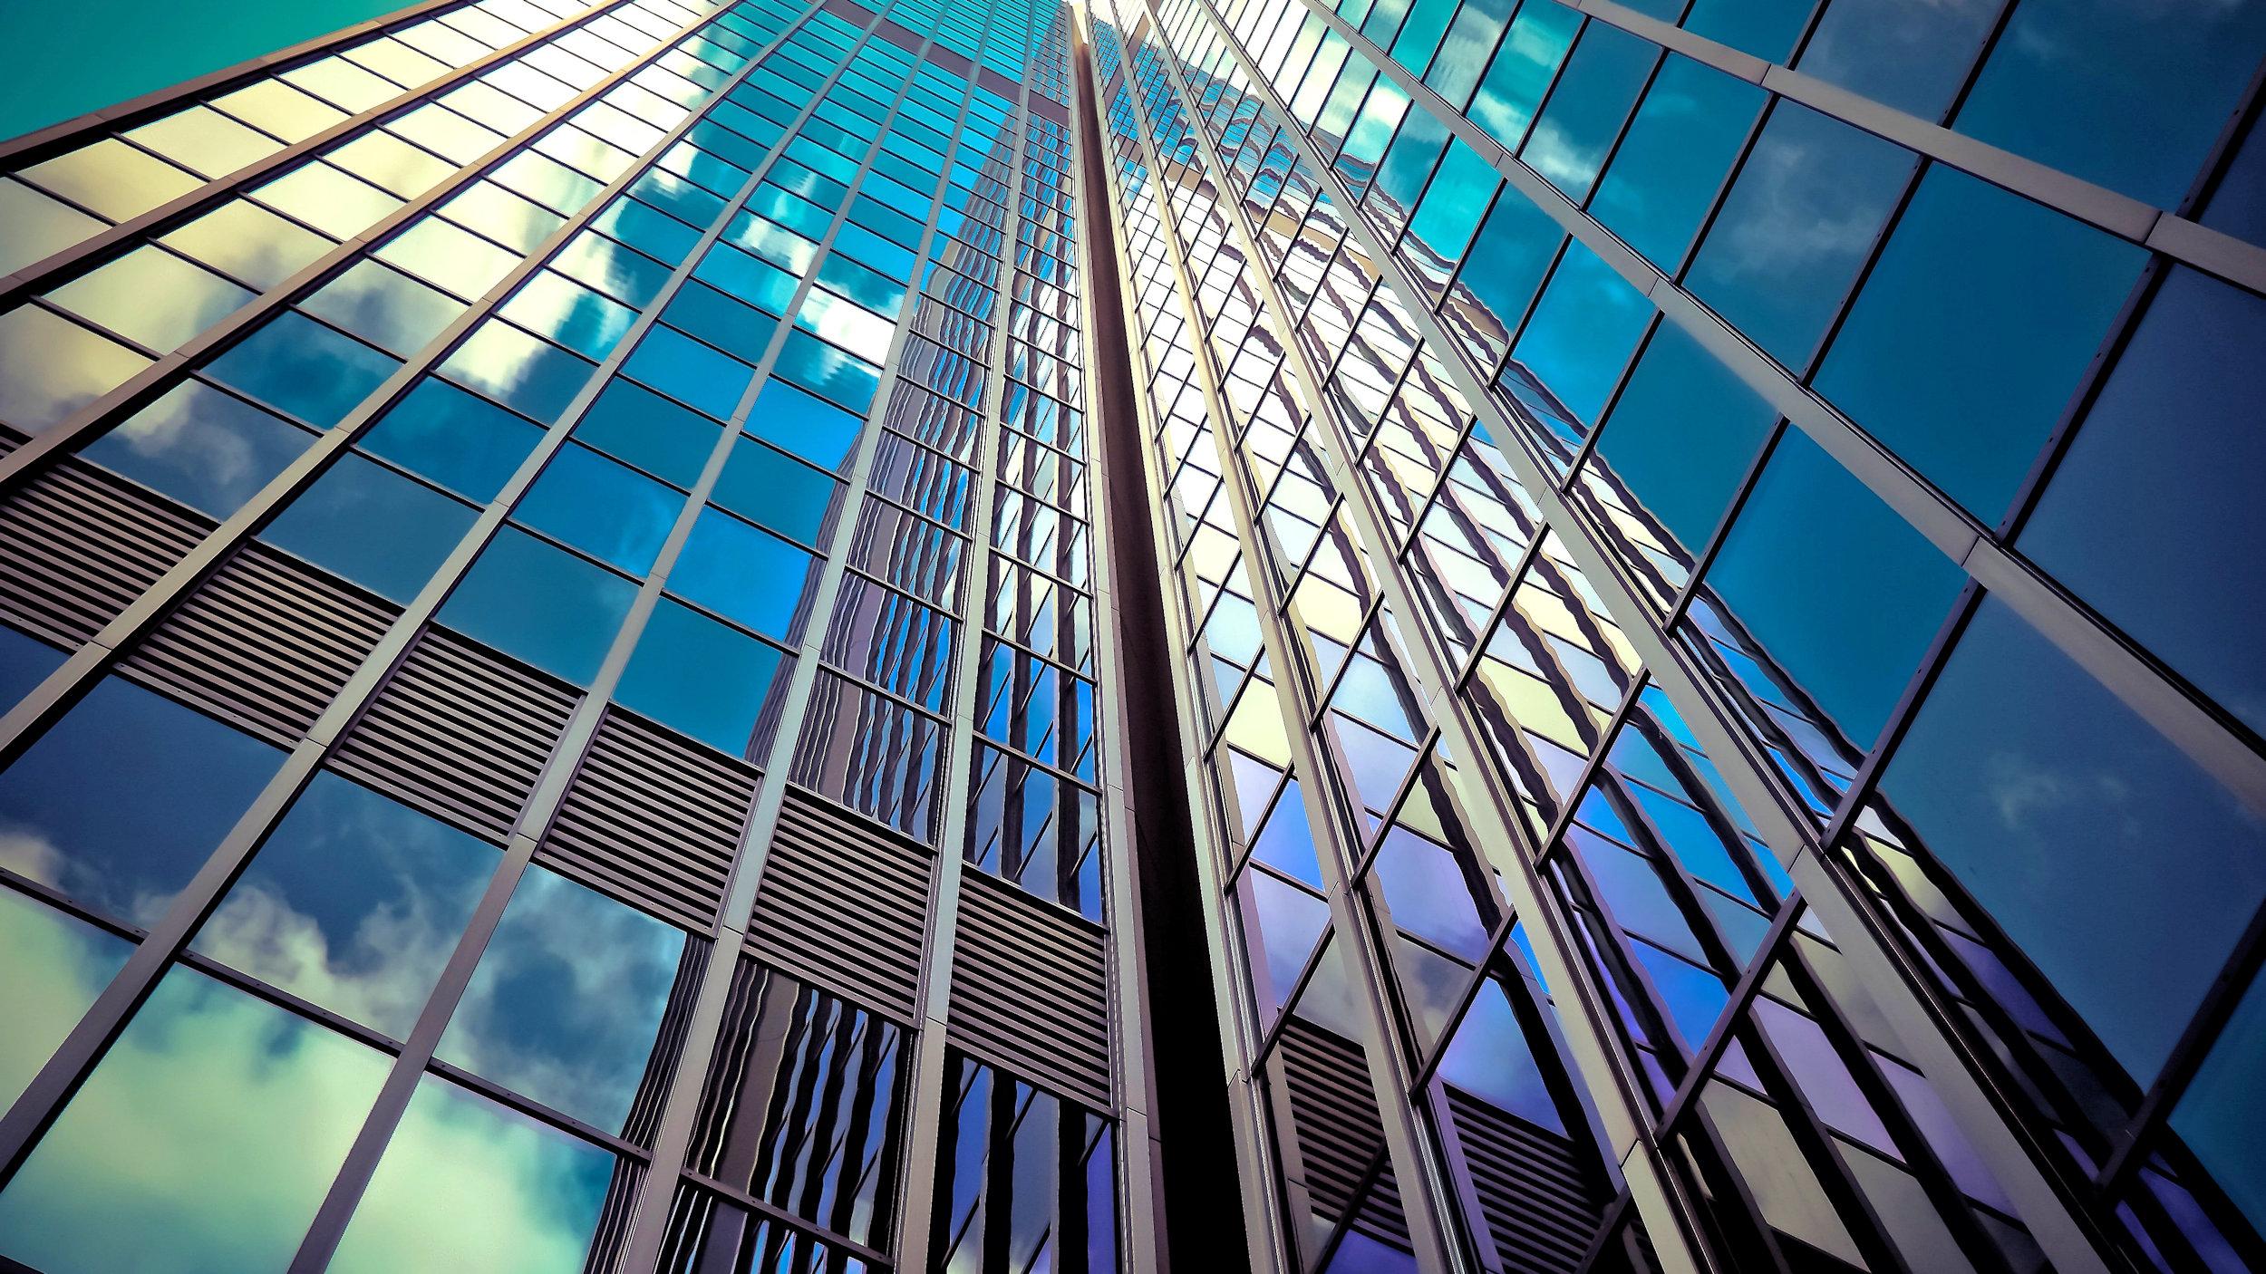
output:
[[387,1059],[174,968],[0,1190],[43,1274],[281,1272]]

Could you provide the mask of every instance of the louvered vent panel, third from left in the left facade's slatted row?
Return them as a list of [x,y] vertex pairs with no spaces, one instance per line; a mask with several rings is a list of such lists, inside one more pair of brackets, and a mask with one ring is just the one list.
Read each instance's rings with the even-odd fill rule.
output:
[[576,691],[428,628],[338,746],[335,766],[503,839],[535,791]]

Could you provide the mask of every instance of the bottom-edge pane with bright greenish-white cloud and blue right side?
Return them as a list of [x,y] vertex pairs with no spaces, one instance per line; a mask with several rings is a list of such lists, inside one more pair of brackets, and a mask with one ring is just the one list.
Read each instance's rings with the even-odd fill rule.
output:
[[458,1088],[417,1081],[329,1274],[582,1269],[614,1156]]

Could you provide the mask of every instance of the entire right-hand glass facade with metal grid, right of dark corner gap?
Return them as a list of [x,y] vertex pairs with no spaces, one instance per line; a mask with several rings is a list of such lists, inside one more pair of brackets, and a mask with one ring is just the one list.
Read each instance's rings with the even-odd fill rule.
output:
[[[2255,1068],[2239,585],[2178,569],[2193,596],[2155,587],[2175,617],[2148,614],[2141,576],[2193,544],[2096,569],[2114,553],[2078,524],[2135,496],[2101,465],[2166,363],[2212,404],[2198,451],[2243,428],[2266,36],[1978,9],[1913,20],[1910,50],[1847,0],[1104,14],[1255,1263],[2259,1260],[2248,1161],[2214,1129]],[[2042,120],[2069,91],[2026,63],[2048,32],[2103,63],[2119,32],[2218,48],[2178,91],[2092,79],[2157,129],[2103,141]],[[1849,240],[1824,265],[1820,222]],[[1958,408],[1931,381],[2003,417],[1969,426],[1976,453],[1928,433]],[[2010,730],[2055,696],[2082,707]],[[1994,746],[2069,807],[2051,836],[1992,818]],[[2114,866],[2191,818],[2214,846],[2162,882]],[[2135,945],[2087,961],[2110,938],[2058,934],[2033,893],[2094,870],[2046,907]],[[2144,936],[2227,882],[2200,952]],[[2107,961],[2178,1002],[2116,1002]],[[1502,1242],[1505,1154],[1453,1075],[1441,1099],[1464,1031],[1500,1047],[1491,986],[1611,1179],[1577,1258]],[[1366,1056],[1351,1140],[1362,1115],[1296,1075],[1273,1093],[1285,1020]],[[1332,1133],[1396,1215],[1317,1181]]]

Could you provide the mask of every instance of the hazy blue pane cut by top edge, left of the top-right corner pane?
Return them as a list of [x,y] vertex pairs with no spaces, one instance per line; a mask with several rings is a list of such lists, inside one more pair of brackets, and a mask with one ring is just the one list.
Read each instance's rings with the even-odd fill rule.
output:
[[[1724,7],[1749,9],[1752,0]],[[1831,0],[1797,66],[1935,122],[2001,9],[2001,0]]]

